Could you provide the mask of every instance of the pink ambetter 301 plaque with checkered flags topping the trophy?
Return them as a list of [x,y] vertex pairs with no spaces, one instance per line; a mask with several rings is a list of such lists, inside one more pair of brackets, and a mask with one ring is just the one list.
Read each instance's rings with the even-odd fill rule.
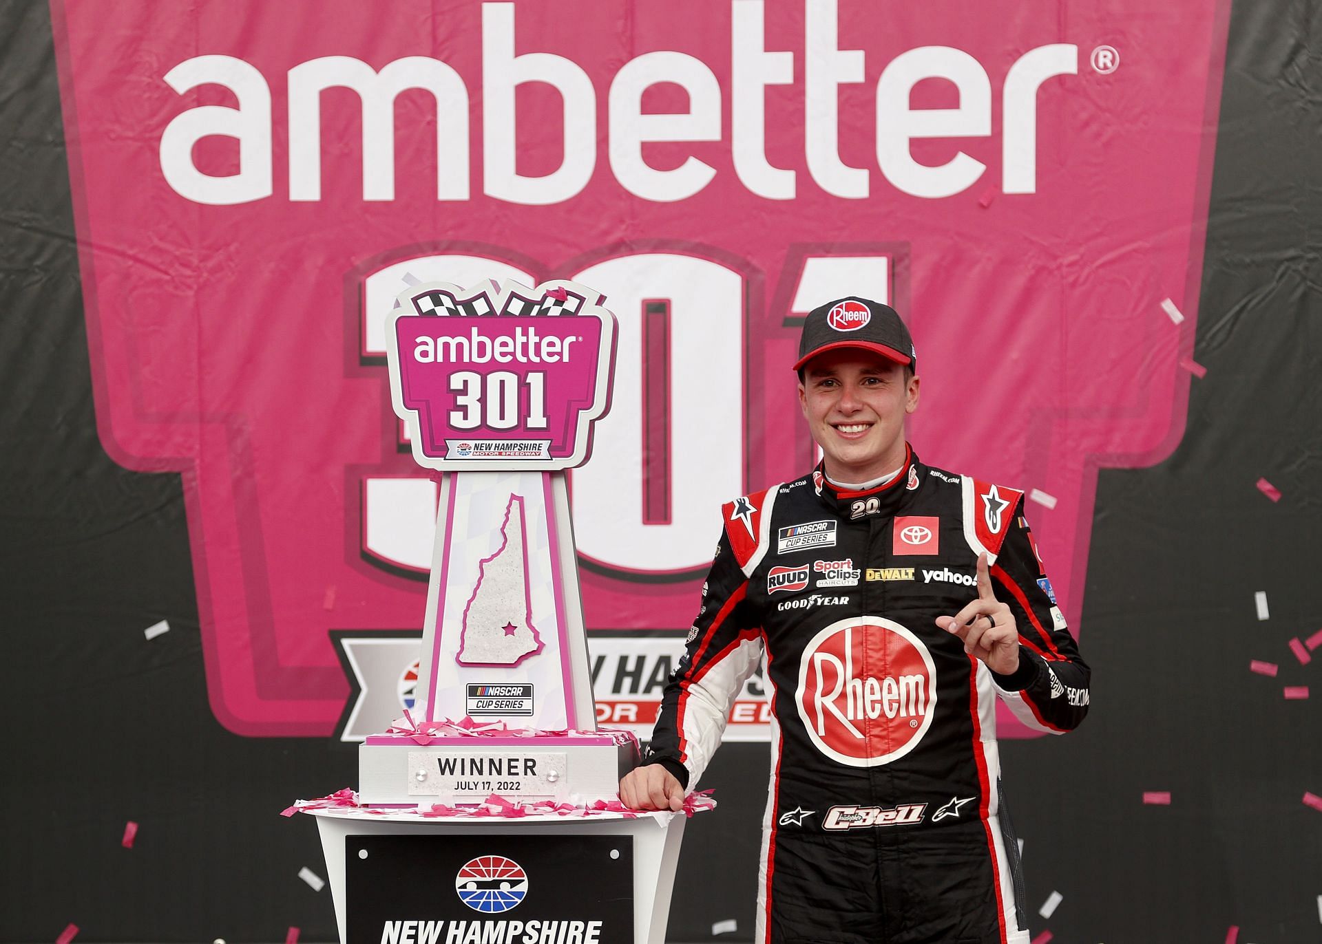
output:
[[570,469],[611,401],[615,316],[567,280],[402,292],[386,323],[395,413],[427,469]]

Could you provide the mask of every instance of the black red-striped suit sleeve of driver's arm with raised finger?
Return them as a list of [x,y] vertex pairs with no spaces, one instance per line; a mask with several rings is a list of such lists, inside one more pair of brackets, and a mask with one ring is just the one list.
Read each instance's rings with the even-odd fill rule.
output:
[[1017,511],[990,570],[995,597],[1014,614],[1019,667],[1009,675],[992,672],[992,680],[1025,725],[1064,734],[1088,714],[1091,669],[1056,605],[1023,511]]

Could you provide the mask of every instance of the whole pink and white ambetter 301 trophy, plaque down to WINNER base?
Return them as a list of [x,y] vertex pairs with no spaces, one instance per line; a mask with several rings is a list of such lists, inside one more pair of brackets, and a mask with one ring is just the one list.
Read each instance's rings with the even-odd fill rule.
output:
[[613,799],[636,762],[596,734],[564,482],[609,407],[603,301],[570,281],[397,301],[390,392],[440,506],[418,700],[361,746],[361,803]]

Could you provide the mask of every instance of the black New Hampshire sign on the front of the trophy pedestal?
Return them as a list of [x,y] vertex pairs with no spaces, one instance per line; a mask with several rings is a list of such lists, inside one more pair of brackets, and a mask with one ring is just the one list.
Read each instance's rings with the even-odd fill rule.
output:
[[345,944],[632,944],[629,836],[348,836]]

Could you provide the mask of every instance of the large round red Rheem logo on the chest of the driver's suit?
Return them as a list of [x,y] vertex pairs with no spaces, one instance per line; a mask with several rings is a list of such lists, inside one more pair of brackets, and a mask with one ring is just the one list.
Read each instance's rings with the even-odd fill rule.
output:
[[850,767],[914,750],[932,725],[936,667],[927,646],[882,617],[841,619],[813,636],[795,696],[813,745]]

